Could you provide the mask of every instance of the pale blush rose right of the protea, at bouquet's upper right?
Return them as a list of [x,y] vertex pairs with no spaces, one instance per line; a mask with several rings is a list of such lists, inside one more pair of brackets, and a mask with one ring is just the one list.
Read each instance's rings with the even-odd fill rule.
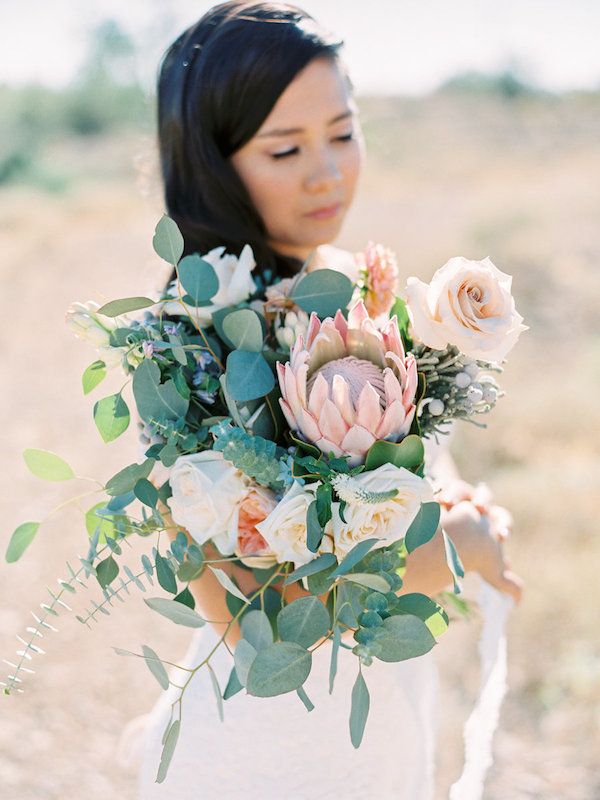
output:
[[502,361],[522,331],[512,277],[489,258],[451,258],[428,285],[409,278],[405,294],[415,337],[443,350],[453,344],[470,358]]

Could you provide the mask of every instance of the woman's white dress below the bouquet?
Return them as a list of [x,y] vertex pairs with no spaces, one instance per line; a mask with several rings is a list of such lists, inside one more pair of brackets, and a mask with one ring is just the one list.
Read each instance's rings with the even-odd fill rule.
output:
[[[442,448],[428,447],[428,471]],[[195,632],[181,665],[198,664],[217,642],[212,626]],[[431,800],[437,707],[433,653],[398,663],[373,660],[363,669],[370,711],[361,746],[350,742],[350,695],[358,659],[340,648],[329,694],[331,644],[319,647],[305,684],[310,713],[295,692],[256,698],[243,690],[218,717],[203,667],[186,691],[177,748],[164,783],[155,783],[161,739],[178,690],[159,698],[148,716],[139,778],[141,800]],[[211,658],[221,690],[233,659],[224,647]],[[182,683],[186,673],[172,674]]]

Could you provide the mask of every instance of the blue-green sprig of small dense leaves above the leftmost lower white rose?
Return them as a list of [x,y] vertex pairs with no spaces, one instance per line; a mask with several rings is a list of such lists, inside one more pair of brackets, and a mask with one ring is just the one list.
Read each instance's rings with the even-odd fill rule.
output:
[[215,438],[213,449],[223,453],[245,475],[261,486],[281,488],[279,456],[282,451],[275,442],[223,424],[214,425],[210,432]]

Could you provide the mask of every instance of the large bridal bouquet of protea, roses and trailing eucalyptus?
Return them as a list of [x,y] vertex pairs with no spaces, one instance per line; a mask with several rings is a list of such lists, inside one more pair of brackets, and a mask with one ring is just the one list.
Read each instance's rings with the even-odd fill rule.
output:
[[[38,639],[88,581],[102,598],[77,616],[85,625],[131,587],[146,591],[156,581],[164,594],[146,604],[198,628],[206,623],[188,584],[208,569],[226,590],[227,631],[239,622],[242,638],[225,687],[210,655],[178,687],[158,780],[197,670],[209,670],[221,714],[223,700],[242,689],[259,697],[295,691],[310,711],[303,685],[314,650],[328,640],[330,691],[340,649],[357,658],[350,736],[358,747],[369,710],[363,667],[422,655],[448,625],[435,600],[397,594],[406,556],[439,525],[423,440],[496,403],[493,375],[524,329],[511,278],[489,259],[453,258],[430,284],[409,278],[401,298],[392,253],[371,244],[354,280],[303,269],[268,286],[253,276],[248,246],[239,258],[224,248],[182,258],[183,238],[169,217],[153,244],[176,270],[163,296],[74,303],[67,313],[69,326],[97,349],[84,393],[114,367],[130,378],[94,405],[102,439],[117,439],[133,414],[143,457],[100,483],[101,498],[85,517],[87,553],[67,565],[59,589],[33,615],[35,627],[19,637],[5,693],[22,691],[23,673],[41,652]],[[54,453],[30,449],[24,458],[38,477],[77,477]],[[23,554],[40,524],[16,529],[8,561]],[[135,534],[151,545],[133,570],[123,553]],[[459,591],[460,558],[442,536]],[[257,590],[244,593],[227,563],[252,571]],[[296,582],[304,592],[289,601]],[[166,662],[151,648],[118,652],[139,655],[169,687]]]

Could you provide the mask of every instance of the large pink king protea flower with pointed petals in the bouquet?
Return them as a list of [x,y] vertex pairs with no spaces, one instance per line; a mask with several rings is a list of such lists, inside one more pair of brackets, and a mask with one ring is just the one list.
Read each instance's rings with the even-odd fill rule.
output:
[[281,408],[292,430],[324,453],[364,461],[378,439],[398,441],[415,415],[417,365],[396,317],[378,329],[359,301],[320,322],[312,314],[290,360],[277,364]]

